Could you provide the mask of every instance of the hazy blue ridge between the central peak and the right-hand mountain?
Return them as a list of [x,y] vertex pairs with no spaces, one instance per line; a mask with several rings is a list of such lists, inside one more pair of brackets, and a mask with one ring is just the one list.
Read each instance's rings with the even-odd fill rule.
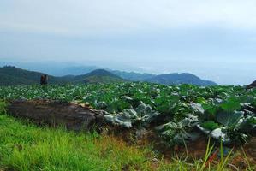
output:
[[143,81],[143,80],[151,79],[152,77],[156,76],[154,74],[140,74],[140,73],[134,73],[134,72],[118,71],[118,70],[110,70],[110,72],[118,75],[124,80],[132,80],[132,81]]

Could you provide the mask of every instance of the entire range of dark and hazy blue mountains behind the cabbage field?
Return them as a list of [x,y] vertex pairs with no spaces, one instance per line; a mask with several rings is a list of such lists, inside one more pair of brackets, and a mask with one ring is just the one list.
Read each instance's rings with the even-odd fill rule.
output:
[[[95,67],[96,68],[96,67]],[[73,70],[68,74],[68,70]],[[92,71],[91,71],[92,70]],[[201,80],[193,74],[138,74],[134,72],[124,72],[110,69],[88,68],[87,73],[73,75],[75,72],[80,73],[85,68],[75,70],[67,68],[67,75],[56,77],[49,75],[49,84],[78,84],[78,83],[111,83],[120,81],[146,81],[164,85],[192,84],[192,85],[217,85],[209,80]],[[15,67],[0,68],[0,85],[31,85],[39,84],[40,76],[43,73],[28,71]]]

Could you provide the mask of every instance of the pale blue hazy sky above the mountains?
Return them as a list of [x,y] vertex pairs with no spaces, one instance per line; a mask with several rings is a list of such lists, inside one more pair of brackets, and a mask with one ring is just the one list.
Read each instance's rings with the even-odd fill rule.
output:
[[1,0],[0,63],[256,80],[255,0]]

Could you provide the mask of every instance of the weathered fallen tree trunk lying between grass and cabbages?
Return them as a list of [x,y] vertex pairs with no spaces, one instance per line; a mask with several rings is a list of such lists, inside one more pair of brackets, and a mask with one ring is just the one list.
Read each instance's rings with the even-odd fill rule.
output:
[[102,111],[80,105],[45,100],[16,100],[9,102],[10,115],[27,118],[39,124],[65,126],[72,130],[90,130],[104,121]]

